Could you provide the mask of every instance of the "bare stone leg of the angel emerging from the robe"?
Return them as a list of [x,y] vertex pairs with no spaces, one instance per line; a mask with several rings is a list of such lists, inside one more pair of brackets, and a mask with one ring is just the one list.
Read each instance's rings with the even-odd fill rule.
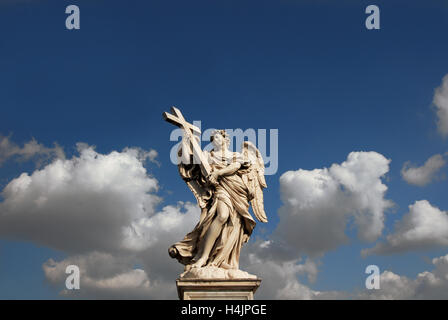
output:
[[210,251],[212,250],[216,239],[222,231],[223,224],[227,221],[228,218],[229,208],[224,202],[218,200],[216,217],[210,225],[207,233],[205,234],[203,247],[202,250],[200,250],[202,252],[201,257],[193,264],[193,268],[200,268],[207,263]]

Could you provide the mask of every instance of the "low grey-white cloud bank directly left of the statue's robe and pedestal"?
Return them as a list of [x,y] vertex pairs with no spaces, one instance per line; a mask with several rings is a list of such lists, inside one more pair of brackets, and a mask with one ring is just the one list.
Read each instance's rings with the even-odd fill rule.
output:
[[[129,250],[91,251],[61,261],[49,259],[43,265],[47,281],[60,294],[83,299],[176,299],[175,279],[182,266],[168,256],[168,247],[191,231],[199,219],[192,203],[165,206],[131,228]],[[135,242],[137,241],[137,242]],[[80,268],[82,290],[66,290],[65,269]],[[138,267],[135,267],[138,265]]]

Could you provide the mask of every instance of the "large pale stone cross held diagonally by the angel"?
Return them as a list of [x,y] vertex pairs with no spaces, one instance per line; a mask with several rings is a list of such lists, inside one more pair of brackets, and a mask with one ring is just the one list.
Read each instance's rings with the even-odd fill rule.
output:
[[201,130],[196,127],[195,125],[192,125],[191,123],[188,123],[184,116],[182,115],[182,112],[180,112],[179,109],[176,107],[171,107],[171,113],[164,112],[163,118],[175,126],[181,128],[184,132],[184,134],[190,138],[190,154],[193,155],[193,163],[198,163],[201,167],[202,174],[205,177],[208,177],[210,173],[212,172],[212,169],[210,167],[210,164],[207,161],[207,158],[202,153],[201,146],[196,141],[194,134],[201,134]]

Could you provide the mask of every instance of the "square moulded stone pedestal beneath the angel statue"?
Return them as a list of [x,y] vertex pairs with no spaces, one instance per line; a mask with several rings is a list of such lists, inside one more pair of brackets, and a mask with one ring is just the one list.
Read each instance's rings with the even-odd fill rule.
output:
[[180,300],[253,300],[261,279],[176,280]]

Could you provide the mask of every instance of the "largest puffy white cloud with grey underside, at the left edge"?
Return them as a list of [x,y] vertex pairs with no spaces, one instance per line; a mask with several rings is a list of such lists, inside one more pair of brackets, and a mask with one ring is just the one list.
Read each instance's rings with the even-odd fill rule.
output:
[[136,152],[83,148],[4,188],[0,235],[67,252],[121,249],[127,228],[155,213],[157,188]]

